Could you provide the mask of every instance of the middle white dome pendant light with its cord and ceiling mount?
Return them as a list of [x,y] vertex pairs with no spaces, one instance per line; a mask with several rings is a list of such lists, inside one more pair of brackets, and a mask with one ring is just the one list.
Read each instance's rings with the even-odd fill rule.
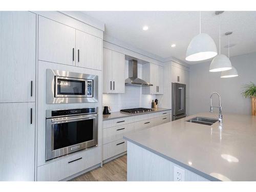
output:
[[[220,15],[224,11],[216,11],[216,15]],[[214,59],[212,59],[210,63],[209,72],[219,72],[219,71],[227,71],[232,69],[232,65],[230,60],[227,58],[226,55],[221,54],[221,19],[219,16],[219,55],[217,55]]]

